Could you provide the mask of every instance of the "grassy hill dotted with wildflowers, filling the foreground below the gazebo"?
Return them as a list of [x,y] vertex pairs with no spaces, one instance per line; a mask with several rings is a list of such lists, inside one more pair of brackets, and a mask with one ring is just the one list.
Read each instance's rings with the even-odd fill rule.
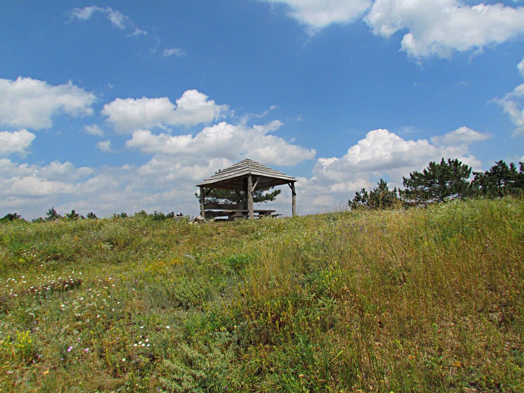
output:
[[524,201],[0,225],[0,391],[524,391]]

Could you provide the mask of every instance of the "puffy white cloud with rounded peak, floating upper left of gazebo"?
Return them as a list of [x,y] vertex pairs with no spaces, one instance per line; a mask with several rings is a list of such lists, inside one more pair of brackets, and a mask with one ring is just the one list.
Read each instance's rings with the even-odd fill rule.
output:
[[223,117],[227,110],[227,105],[218,105],[197,90],[187,90],[176,104],[168,97],[116,99],[104,105],[102,114],[117,132],[133,132],[141,128],[209,123]]

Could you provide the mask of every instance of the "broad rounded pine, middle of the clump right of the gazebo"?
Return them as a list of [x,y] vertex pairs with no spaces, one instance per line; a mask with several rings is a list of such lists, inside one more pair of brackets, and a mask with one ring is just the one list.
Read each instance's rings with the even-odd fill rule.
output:
[[433,202],[443,202],[454,198],[467,198],[471,195],[471,167],[458,159],[450,159],[440,163],[431,161],[422,172],[411,172],[409,178],[403,178],[405,190],[400,196],[406,203],[425,205]]

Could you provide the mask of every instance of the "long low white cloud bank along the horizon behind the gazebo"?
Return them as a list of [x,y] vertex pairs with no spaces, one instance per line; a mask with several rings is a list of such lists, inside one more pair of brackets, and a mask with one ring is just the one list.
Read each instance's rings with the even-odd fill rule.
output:
[[[195,184],[219,169],[246,157],[269,167],[296,165],[314,158],[314,150],[274,135],[280,126],[279,121],[252,127],[223,122],[194,136],[141,130],[127,145],[154,156],[138,167],[78,168],[67,161],[40,166],[0,158],[0,209],[4,210],[0,215],[17,211],[31,219],[45,215],[50,206],[61,214],[72,209],[84,215],[90,211],[104,215],[145,209],[196,215],[199,202],[194,197],[198,191]],[[441,157],[459,158],[474,170],[482,170],[469,146],[487,137],[467,127],[429,139],[403,139],[387,129],[370,131],[341,157],[316,160],[310,178],[297,178],[298,212],[346,209],[355,191],[375,187],[380,177],[388,180],[391,188],[402,187],[402,176],[422,170],[429,161],[440,161]],[[286,170],[291,176],[293,172],[292,168]],[[290,214],[290,199],[290,190],[284,185],[271,209]]]

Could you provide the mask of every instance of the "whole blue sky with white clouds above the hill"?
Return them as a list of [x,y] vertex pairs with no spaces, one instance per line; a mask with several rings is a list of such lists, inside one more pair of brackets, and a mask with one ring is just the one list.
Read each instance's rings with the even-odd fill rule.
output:
[[0,1],[0,53],[0,215],[197,215],[244,158],[299,214],[524,161],[522,1]]

